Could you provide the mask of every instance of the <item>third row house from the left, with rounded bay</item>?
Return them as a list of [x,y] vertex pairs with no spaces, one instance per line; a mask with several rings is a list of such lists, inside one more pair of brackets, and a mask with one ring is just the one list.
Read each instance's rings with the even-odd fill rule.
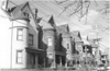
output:
[[72,45],[72,36],[69,33],[69,26],[68,24],[59,25],[56,27],[57,29],[57,36],[58,36],[58,48],[59,51],[66,54],[61,55],[62,58],[62,66],[69,67],[69,61],[73,60],[73,45]]

